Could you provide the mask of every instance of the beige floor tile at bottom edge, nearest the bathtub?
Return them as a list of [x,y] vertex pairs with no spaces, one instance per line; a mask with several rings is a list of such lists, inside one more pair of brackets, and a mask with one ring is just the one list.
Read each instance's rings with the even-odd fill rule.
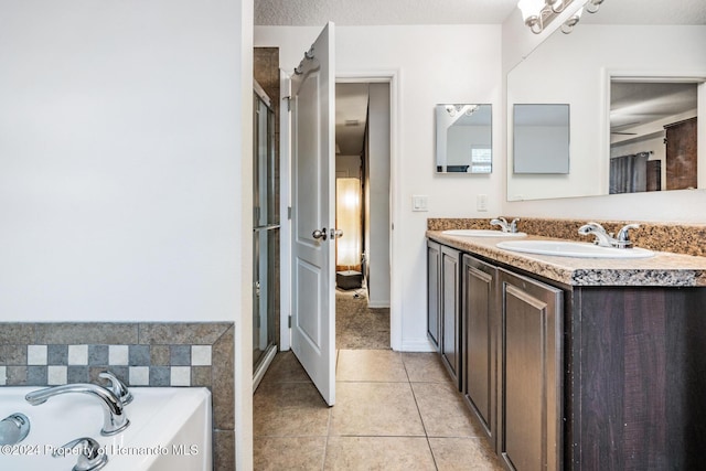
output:
[[325,446],[325,437],[255,437],[253,468],[257,471],[320,471]]

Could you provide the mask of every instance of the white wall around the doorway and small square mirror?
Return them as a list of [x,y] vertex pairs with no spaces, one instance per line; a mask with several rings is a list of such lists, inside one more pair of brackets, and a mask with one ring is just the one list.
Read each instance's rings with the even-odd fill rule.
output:
[[[323,25],[321,25],[323,26]],[[280,65],[291,71],[321,28],[256,26],[255,44],[280,47]],[[493,104],[501,129],[501,26],[336,26],[336,75],[396,74],[393,87],[393,317],[400,325],[393,347],[428,350],[426,339],[425,231],[428,217],[494,217],[503,174],[437,175],[434,172],[434,110],[439,103]],[[395,95],[396,94],[396,95]],[[496,132],[493,148],[500,149]],[[411,195],[429,196],[428,212],[411,212]],[[489,211],[475,211],[488,194]],[[393,329],[396,329],[393,327]]]

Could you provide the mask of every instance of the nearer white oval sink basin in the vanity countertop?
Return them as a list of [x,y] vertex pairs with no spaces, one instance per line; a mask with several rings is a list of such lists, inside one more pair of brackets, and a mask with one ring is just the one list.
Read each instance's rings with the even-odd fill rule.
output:
[[525,254],[554,255],[559,257],[580,258],[649,258],[654,251],[645,248],[612,248],[600,247],[584,242],[565,240],[507,240],[495,245],[506,250],[523,251]]

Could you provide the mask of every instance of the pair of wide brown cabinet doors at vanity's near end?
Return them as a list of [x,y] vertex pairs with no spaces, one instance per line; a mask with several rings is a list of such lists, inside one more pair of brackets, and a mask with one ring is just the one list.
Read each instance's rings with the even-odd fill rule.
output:
[[509,469],[561,469],[561,289],[463,255],[462,392]]

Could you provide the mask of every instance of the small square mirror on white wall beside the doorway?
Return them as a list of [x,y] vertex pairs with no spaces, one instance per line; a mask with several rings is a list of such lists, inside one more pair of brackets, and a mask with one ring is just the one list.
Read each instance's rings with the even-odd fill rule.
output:
[[437,173],[491,173],[492,137],[491,105],[437,105]]

